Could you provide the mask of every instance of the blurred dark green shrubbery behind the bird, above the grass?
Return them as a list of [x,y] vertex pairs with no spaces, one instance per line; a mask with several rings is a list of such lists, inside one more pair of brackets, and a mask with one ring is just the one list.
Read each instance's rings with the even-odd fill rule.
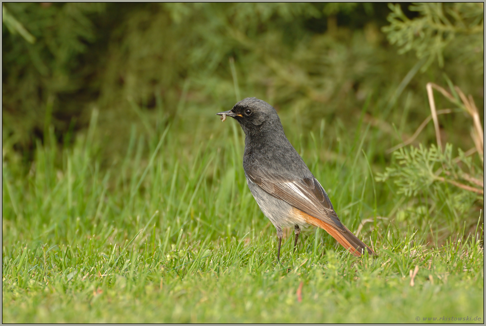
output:
[[[414,152],[384,153],[430,115],[426,83],[451,80],[483,120],[483,15],[483,3],[4,3],[2,161],[25,175],[37,146],[51,138],[69,148],[93,110],[103,147],[91,150],[103,169],[120,168],[134,133],[158,139],[168,125],[181,151],[191,151],[194,129],[256,96],[292,125],[302,148],[311,144],[307,131],[324,125],[330,147],[340,134],[363,137],[370,168],[395,166],[379,180],[400,187],[407,172],[394,164]],[[475,145],[470,118],[454,110],[439,126],[444,143],[454,144],[444,153],[451,157]],[[373,132],[360,133],[361,124]],[[412,145],[428,150],[435,142],[428,126]],[[464,163],[480,179],[482,162],[472,159]],[[405,188],[397,194],[416,195]],[[451,208],[457,214],[484,206],[464,196]]]

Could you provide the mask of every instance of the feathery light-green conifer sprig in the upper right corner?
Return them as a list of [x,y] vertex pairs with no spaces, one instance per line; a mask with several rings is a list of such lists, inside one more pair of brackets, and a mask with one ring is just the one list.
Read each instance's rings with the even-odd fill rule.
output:
[[409,19],[399,4],[390,4],[387,33],[390,43],[401,47],[399,53],[415,51],[427,61],[423,70],[437,60],[444,66],[444,51],[450,48],[462,61],[474,63],[474,72],[484,75],[484,3],[415,3],[411,11],[419,17]]

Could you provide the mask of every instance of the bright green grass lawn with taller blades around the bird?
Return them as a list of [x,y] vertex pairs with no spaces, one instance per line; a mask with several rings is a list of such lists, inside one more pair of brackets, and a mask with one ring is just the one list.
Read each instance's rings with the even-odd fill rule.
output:
[[393,220],[404,204],[373,178],[367,158],[384,150],[364,142],[369,126],[351,137],[338,124],[332,139],[324,122],[284,128],[344,224],[370,220],[360,236],[379,256],[312,228],[293,254],[289,229],[279,264],[244,179],[243,132],[212,114],[162,121],[150,139],[132,130],[125,157],[102,162],[95,111],[70,148],[51,130],[28,172],[2,161],[2,322],[484,323],[478,232],[437,245],[437,223]]

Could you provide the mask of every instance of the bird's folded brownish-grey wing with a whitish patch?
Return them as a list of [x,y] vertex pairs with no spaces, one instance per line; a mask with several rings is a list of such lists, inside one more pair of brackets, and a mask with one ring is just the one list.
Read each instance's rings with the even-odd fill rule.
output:
[[267,175],[251,167],[245,168],[245,174],[268,194],[285,200],[323,222],[344,229],[331,200],[313,176],[301,180],[289,180],[281,176]]

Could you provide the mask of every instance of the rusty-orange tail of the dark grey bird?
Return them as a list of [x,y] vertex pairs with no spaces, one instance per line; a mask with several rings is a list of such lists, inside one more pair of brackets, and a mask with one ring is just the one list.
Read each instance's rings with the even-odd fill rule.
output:
[[326,230],[334,239],[337,240],[344,248],[348,249],[353,255],[360,257],[365,250],[368,251],[369,255],[376,256],[376,253],[372,251],[368,246],[366,246],[363,241],[358,239],[347,227],[344,225],[344,229],[332,226],[318,218],[307,215],[306,222],[314,226],[320,227]]

